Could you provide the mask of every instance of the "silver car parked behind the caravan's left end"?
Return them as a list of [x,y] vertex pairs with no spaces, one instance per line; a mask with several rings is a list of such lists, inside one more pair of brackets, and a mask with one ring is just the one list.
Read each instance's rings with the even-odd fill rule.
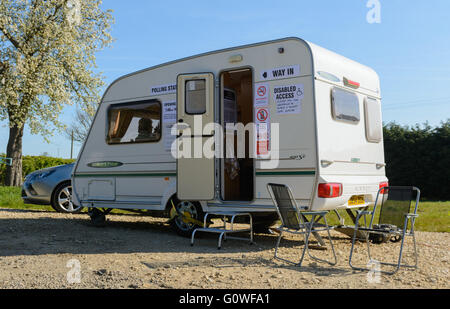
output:
[[50,167],[25,177],[22,199],[26,204],[51,205],[63,213],[79,213],[82,207],[72,204],[71,173],[74,163]]

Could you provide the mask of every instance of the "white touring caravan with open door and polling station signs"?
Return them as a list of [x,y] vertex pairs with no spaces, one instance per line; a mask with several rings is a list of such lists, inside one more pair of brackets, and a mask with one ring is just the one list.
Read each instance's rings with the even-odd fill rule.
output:
[[[175,123],[194,127],[194,119],[200,130],[172,134]],[[254,123],[264,134],[248,133],[239,158],[172,154],[182,141],[219,147],[223,135],[202,130],[209,123]],[[228,146],[235,154],[236,144]],[[298,38],[125,75],[103,96],[72,183],[73,202],[97,212],[176,208],[197,220],[208,211],[244,211],[272,223],[268,183],[288,185],[310,210],[371,206],[387,185],[378,75]],[[172,221],[181,234],[195,225]]]

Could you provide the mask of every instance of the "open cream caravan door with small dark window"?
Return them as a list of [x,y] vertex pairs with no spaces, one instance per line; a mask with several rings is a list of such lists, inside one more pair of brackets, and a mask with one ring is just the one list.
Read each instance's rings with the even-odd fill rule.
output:
[[177,196],[180,200],[214,199],[215,157],[204,153],[214,149],[214,75],[182,74],[177,79]]

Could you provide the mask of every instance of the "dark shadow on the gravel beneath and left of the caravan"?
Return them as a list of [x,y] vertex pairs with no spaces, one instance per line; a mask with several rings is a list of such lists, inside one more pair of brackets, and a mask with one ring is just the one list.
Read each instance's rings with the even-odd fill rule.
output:
[[[5,210],[2,210],[5,212]],[[7,212],[34,212],[8,210]],[[190,239],[178,236],[167,219],[136,215],[113,215],[105,227],[94,227],[87,215],[60,215],[35,211],[36,218],[0,218],[0,257],[46,254],[127,254],[127,253],[197,253],[226,255],[272,250],[277,235],[255,234],[255,244],[228,240],[217,250],[217,235],[196,235]],[[85,216],[85,218],[83,218]],[[283,240],[283,247],[297,247],[299,240]],[[214,258],[214,261],[217,259]],[[246,265],[254,261],[243,259]],[[199,260],[200,261],[200,260]],[[258,260],[258,263],[266,263]],[[202,262],[203,263],[203,262]],[[217,264],[214,262],[214,264]],[[257,264],[257,263],[256,263]],[[225,266],[224,266],[225,267]]]

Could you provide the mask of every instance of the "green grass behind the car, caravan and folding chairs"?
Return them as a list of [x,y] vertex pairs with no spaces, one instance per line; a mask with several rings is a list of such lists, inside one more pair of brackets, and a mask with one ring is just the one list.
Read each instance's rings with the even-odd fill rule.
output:
[[[51,206],[24,204],[21,198],[20,188],[1,186],[0,208],[54,211]],[[115,210],[114,212],[123,213],[120,210]],[[340,211],[339,213],[345,219],[346,224],[352,224],[350,217],[345,211]],[[419,218],[416,220],[415,224],[415,228],[417,231],[446,233],[450,232],[450,201],[422,201],[419,204],[418,214]],[[339,224],[339,220],[333,213],[330,213],[327,216],[327,220],[331,225]]]

